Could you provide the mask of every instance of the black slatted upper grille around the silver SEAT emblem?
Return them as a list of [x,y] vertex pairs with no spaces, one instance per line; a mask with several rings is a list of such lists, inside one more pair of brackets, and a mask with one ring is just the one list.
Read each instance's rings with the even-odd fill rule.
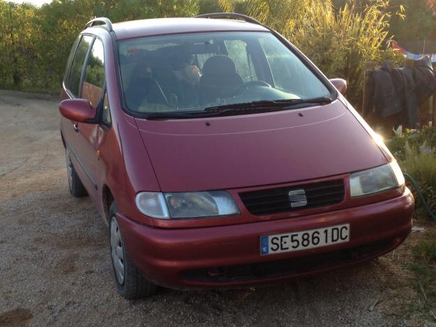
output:
[[[306,201],[299,201],[301,196],[293,195],[296,190],[304,190]],[[294,191],[291,192],[290,191]],[[343,201],[345,194],[343,179],[323,181],[303,185],[287,186],[283,188],[266,188],[264,190],[241,192],[239,197],[253,215],[269,215],[296,211],[318,206],[329,206]],[[292,206],[292,200],[294,206]]]

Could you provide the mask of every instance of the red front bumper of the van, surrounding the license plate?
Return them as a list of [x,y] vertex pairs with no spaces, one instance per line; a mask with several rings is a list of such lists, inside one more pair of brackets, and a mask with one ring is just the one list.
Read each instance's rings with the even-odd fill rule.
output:
[[[376,204],[299,218],[190,229],[158,229],[118,214],[131,259],[156,284],[176,289],[273,283],[379,257],[412,229],[414,199],[403,195]],[[260,255],[260,236],[350,224],[348,243]]]

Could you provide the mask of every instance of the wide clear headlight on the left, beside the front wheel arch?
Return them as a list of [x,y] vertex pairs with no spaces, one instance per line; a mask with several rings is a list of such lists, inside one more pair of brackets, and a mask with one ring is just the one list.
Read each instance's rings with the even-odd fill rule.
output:
[[136,206],[153,218],[201,218],[239,213],[234,199],[225,191],[211,192],[140,192]]

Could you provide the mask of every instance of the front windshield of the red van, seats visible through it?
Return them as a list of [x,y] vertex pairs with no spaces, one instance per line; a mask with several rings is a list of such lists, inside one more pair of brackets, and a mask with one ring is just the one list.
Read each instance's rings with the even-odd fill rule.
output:
[[183,114],[208,107],[331,96],[269,32],[188,33],[119,42],[127,109]]

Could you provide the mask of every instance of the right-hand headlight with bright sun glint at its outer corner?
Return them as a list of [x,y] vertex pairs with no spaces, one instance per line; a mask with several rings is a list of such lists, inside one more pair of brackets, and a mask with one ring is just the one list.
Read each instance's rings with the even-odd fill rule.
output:
[[353,173],[349,178],[352,197],[398,188],[404,182],[403,173],[396,160],[387,165]]

